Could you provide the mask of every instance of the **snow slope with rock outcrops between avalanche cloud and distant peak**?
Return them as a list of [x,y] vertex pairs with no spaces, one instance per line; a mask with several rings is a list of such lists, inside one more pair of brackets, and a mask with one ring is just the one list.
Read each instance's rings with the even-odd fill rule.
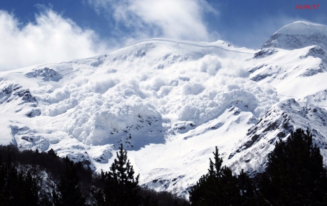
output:
[[281,100],[304,98],[313,103],[309,96],[327,89],[324,82],[327,79],[327,55],[321,47],[308,46],[291,51],[269,48],[258,53],[264,57],[255,58],[258,62],[248,70],[250,80],[259,85],[269,83]]

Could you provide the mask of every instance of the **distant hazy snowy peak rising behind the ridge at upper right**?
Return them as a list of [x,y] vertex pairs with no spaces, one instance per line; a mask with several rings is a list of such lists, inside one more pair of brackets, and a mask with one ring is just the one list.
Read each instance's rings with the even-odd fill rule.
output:
[[296,21],[273,34],[261,47],[282,48],[287,50],[317,45],[327,49],[327,26]]

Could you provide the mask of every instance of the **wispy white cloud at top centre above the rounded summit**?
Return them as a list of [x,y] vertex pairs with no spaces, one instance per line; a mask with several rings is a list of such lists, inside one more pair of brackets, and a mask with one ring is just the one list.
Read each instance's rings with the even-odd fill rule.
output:
[[[116,29],[132,32],[129,41],[163,37],[179,40],[213,41],[204,21],[205,12],[215,11],[205,0],[88,0],[101,13],[112,14]],[[110,17],[111,18],[111,17]],[[217,33],[215,34],[217,35]]]

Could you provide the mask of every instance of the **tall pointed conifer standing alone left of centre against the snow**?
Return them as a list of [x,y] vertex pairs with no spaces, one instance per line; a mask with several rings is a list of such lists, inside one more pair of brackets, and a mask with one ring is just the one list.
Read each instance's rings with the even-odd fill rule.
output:
[[127,160],[127,151],[123,151],[123,144],[119,147],[117,159],[110,167],[110,171],[101,171],[104,189],[95,192],[98,206],[140,206],[141,196],[139,176],[134,179],[134,169]]

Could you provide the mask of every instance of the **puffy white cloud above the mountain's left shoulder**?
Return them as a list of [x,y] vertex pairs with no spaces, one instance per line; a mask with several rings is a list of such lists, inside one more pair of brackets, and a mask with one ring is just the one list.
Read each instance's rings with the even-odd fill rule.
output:
[[92,30],[83,30],[51,9],[22,25],[0,10],[0,71],[40,63],[82,59],[108,52]]

